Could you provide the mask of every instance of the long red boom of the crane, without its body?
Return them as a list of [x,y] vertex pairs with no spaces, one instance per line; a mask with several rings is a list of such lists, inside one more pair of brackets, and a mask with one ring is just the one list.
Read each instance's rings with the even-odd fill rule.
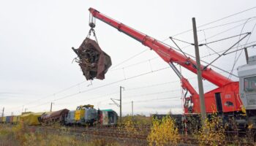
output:
[[[180,64],[181,66],[184,66],[186,69],[189,69],[191,72],[197,74],[196,62],[191,58],[187,58],[181,53],[178,53],[176,50],[173,50],[173,48],[167,47],[162,42],[159,42],[157,39],[148,37],[146,34],[142,34],[139,31],[136,31],[135,29],[124,25],[123,23],[119,23],[118,21],[101,14],[96,9],[90,8],[89,11],[91,12],[91,15],[94,16],[94,18],[102,20],[108,25],[117,28],[118,31],[121,31],[124,34],[127,34],[129,37],[138,40],[143,45],[150,47],[167,63],[174,62],[176,64]],[[217,85],[218,87],[222,87],[227,83],[233,82],[232,80],[228,79],[222,74],[214,72],[214,70],[212,70],[211,68],[203,69],[203,66],[200,66],[200,68],[203,70],[202,77],[208,80],[209,82],[212,82],[214,85]]]

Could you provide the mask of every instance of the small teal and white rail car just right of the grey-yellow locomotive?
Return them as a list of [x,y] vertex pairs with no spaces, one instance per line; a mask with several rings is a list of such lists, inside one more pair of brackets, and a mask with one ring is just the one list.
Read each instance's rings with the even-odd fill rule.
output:
[[98,110],[99,123],[102,126],[116,125],[118,115],[113,110]]

